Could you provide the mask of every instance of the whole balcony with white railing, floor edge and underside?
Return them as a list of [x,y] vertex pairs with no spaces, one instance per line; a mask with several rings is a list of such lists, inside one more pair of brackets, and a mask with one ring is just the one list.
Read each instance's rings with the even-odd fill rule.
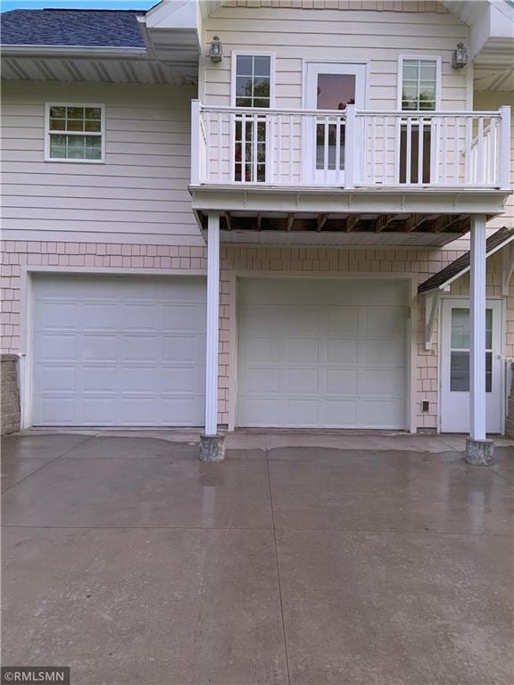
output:
[[194,101],[192,132],[201,227],[218,211],[222,228],[239,234],[430,234],[421,243],[443,244],[468,231],[472,214],[501,213],[510,194],[509,107],[311,111]]

